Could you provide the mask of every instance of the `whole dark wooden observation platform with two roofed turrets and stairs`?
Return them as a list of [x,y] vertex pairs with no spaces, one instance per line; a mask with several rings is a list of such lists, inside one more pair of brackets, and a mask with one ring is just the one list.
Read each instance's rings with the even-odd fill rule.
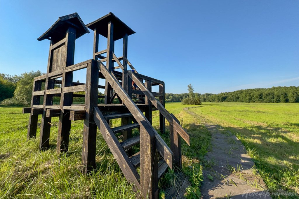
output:
[[[94,31],[92,59],[74,64],[75,40],[89,33],[87,27]],[[42,115],[40,150],[49,147],[51,118],[59,117],[57,152],[68,151],[71,121],[84,120],[85,173],[95,168],[98,127],[124,176],[134,183],[134,189],[140,190],[142,198],[158,198],[158,179],[168,167],[181,167],[180,136],[189,145],[190,138],[164,108],[164,82],[139,74],[128,61],[128,36],[134,33],[113,13],[87,25],[77,13],[59,17],[38,38],[50,40],[48,68],[45,75],[34,79],[31,107],[23,108],[23,113],[30,113],[28,139],[36,137],[38,115]],[[107,49],[99,51],[99,35],[107,38]],[[114,53],[114,42],[118,39],[123,39],[120,57]],[[86,69],[86,84],[73,82],[73,72],[82,69]],[[105,79],[105,85],[99,85],[99,78]],[[137,85],[134,89],[132,81]],[[159,92],[152,92],[152,86],[159,86]],[[105,89],[104,95],[99,95],[99,88]],[[138,101],[132,96],[138,96]],[[60,97],[60,104],[54,105],[53,97]],[[85,104],[73,104],[73,97],[85,98]],[[98,98],[105,98],[104,104],[98,104]],[[120,104],[113,104],[114,98]],[[165,118],[170,124],[170,148],[152,127],[152,111],[156,110],[160,112],[160,132],[166,133]],[[121,118],[121,126],[111,128],[109,120],[116,118]],[[132,137],[135,128],[140,133]],[[131,147],[138,144],[140,151],[132,154]]]

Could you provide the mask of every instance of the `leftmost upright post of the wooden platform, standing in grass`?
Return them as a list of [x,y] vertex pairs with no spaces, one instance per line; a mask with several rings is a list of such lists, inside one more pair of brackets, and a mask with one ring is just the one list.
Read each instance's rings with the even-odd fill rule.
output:
[[[39,105],[40,96],[34,96],[33,92],[41,90],[42,88],[42,81],[33,81],[33,88],[32,88],[32,97],[31,97],[31,107],[33,105]],[[28,131],[27,131],[27,141],[30,138],[36,137],[36,129],[37,129],[37,120],[38,115],[29,115],[29,124],[28,124]]]

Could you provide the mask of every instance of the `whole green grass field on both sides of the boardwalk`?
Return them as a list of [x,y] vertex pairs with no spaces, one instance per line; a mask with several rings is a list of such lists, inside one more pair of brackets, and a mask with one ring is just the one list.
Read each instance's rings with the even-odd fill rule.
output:
[[[185,107],[196,107],[189,110],[202,119],[198,121],[187,114],[183,111]],[[200,164],[210,145],[210,134],[201,124],[205,121],[237,135],[270,190],[298,192],[299,104],[167,103],[166,108],[190,133],[191,146],[182,142],[182,154],[183,171],[191,181],[196,181],[194,174],[200,174]],[[29,115],[21,112],[19,107],[0,107],[0,198],[135,197],[99,131],[97,172],[83,175],[80,172],[83,121],[72,123],[69,152],[59,156],[55,151],[58,118],[52,118],[50,149],[39,152],[39,129],[37,138],[26,142]],[[158,112],[153,112],[155,129],[158,120]],[[120,125],[120,120],[114,120],[113,125]],[[162,137],[169,143],[167,134]],[[197,170],[190,170],[188,165]],[[169,171],[159,181],[161,198],[172,176]]]

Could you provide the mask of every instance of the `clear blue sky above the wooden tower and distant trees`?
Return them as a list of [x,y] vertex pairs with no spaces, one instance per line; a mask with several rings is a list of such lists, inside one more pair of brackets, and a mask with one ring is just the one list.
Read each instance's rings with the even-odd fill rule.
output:
[[[74,12],[85,24],[112,12],[131,27],[129,61],[166,92],[299,86],[298,0],[0,0],[0,73],[46,72],[49,41],[36,38]],[[93,31],[77,39],[75,63],[92,58],[92,45]]]

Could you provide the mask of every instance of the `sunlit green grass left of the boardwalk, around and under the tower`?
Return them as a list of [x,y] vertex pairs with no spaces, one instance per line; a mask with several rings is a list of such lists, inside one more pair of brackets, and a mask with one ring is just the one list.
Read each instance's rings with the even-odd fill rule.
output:
[[[199,164],[210,144],[209,132],[183,111],[186,105],[166,104],[191,135],[191,146],[182,141],[183,170],[188,165]],[[83,121],[72,122],[69,151],[56,152],[58,118],[52,118],[50,149],[39,151],[38,121],[37,138],[26,141],[29,114],[22,114],[19,107],[0,107],[0,198],[135,198],[132,185],[119,169],[101,133],[97,132],[97,171],[91,175],[81,172]],[[153,112],[153,126],[158,129],[159,114]],[[120,125],[120,119],[113,120]],[[168,125],[168,124],[167,124]],[[138,133],[135,130],[133,133]],[[162,135],[167,144],[167,134]],[[194,167],[194,166],[193,166]],[[173,181],[168,171],[159,181],[160,195]]]

